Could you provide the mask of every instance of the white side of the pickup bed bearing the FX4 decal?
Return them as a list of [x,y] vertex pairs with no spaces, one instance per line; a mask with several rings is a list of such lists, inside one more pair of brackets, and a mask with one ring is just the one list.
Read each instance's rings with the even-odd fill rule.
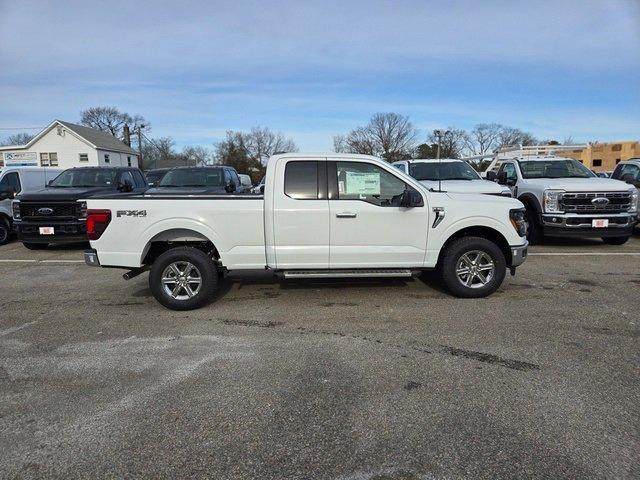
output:
[[111,211],[109,226],[93,242],[104,266],[141,266],[151,242],[166,240],[169,232],[183,241],[210,239],[230,269],[266,265],[261,195],[105,196],[86,202],[88,209]]

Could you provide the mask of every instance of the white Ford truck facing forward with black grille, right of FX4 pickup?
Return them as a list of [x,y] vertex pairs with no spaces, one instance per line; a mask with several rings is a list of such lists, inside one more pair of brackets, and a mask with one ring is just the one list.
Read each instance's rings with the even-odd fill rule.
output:
[[619,180],[596,177],[582,163],[561,157],[505,160],[488,179],[507,185],[527,208],[527,237],[600,237],[622,245],[633,231],[638,191]]

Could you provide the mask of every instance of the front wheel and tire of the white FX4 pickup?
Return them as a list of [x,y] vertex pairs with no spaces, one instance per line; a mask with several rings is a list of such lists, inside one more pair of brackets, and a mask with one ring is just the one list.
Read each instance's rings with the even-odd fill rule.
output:
[[[463,257],[468,254],[467,259],[473,260],[475,252],[482,252],[482,257],[475,257],[478,261],[476,269],[486,268],[489,263],[484,260],[489,259],[493,263],[493,270],[482,270],[480,275],[486,280],[486,283],[480,280],[481,277],[475,274],[467,274],[459,278],[458,266],[464,264]],[[471,268],[471,266],[469,266]],[[491,240],[483,237],[462,237],[454,240],[446,247],[441,259],[440,271],[442,280],[447,289],[456,297],[461,298],[479,298],[486,297],[495,292],[500,285],[507,272],[507,262],[500,247]],[[488,275],[490,273],[490,277]],[[463,283],[463,280],[472,275],[471,286]],[[489,278],[487,278],[489,277]]]

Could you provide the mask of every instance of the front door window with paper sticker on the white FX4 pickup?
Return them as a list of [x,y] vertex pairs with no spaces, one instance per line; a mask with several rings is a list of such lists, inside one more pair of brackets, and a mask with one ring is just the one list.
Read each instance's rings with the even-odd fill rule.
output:
[[377,165],[337,162],[338,200],[362,200],[379,207],[399,207],[408,185]]

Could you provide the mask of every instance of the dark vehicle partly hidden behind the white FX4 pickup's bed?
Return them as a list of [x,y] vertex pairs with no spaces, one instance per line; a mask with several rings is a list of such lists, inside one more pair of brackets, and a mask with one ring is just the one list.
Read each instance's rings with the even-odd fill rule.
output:
[[147,194],[224,195],[240,194],[244,190],[233,167],[175,167],[162,177],[156,187],[147,190]]

